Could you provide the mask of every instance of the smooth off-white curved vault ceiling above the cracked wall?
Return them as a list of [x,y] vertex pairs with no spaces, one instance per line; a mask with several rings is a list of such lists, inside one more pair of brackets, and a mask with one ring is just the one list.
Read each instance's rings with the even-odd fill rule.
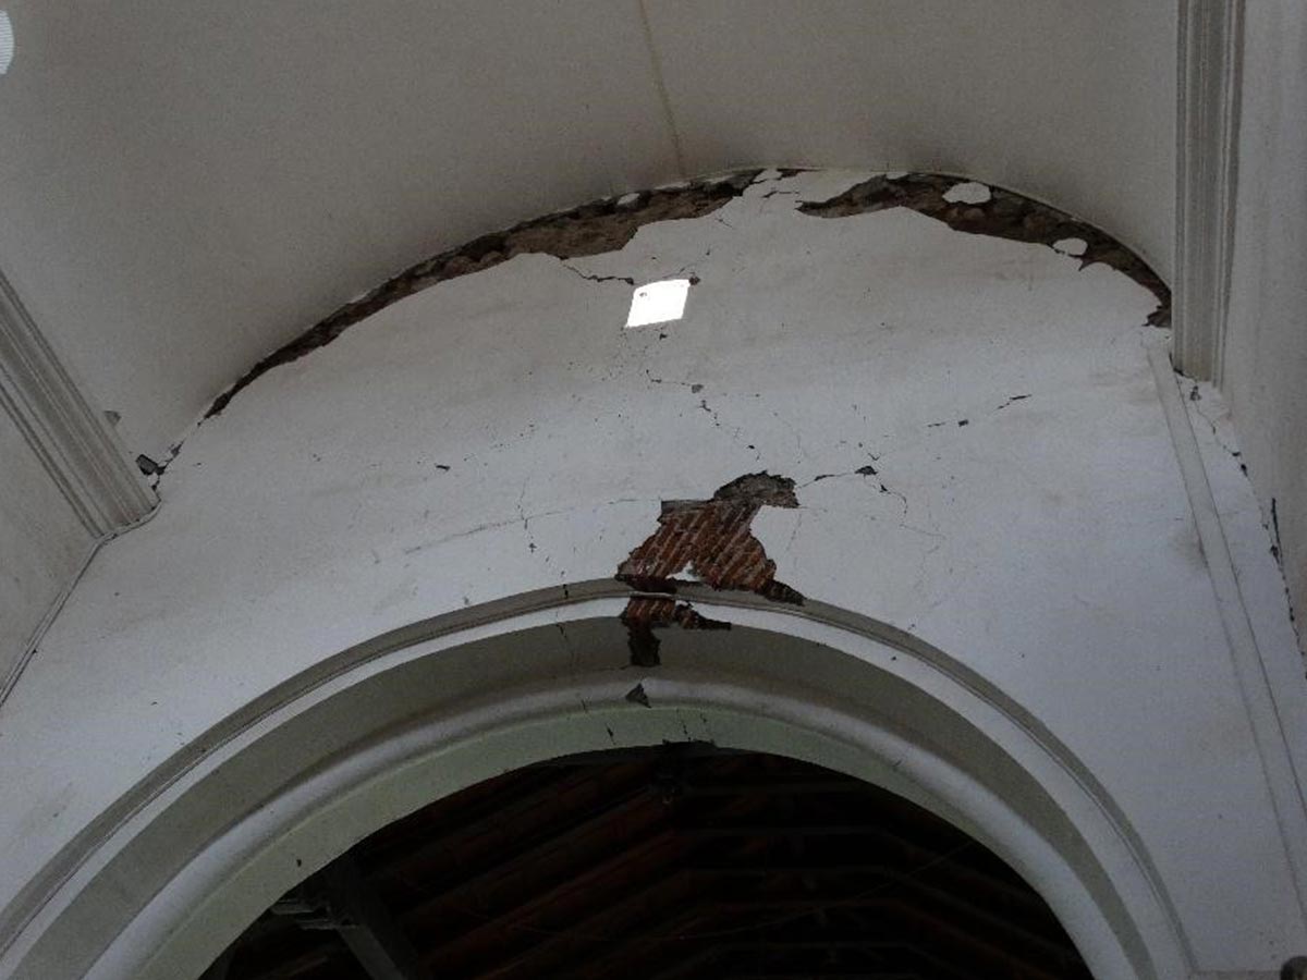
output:
[[425,255],[687,174],[967,172],[1168,277],[1170,0],[646,7],[10,0],[0,267],[152,455]]

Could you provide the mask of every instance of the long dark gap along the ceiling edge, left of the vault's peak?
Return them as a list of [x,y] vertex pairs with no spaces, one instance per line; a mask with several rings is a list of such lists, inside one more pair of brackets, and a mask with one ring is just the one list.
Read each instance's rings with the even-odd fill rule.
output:
[[[204,417],[212,418],[222,412],[242,388],[264,372],[331,344],[359,320],[427,286],[489,269],[518,255],[544,253],[557,259],[576,259],[616,252],[625,247],[643,225],[711,214],[727,201],[744,193],[761,172],[762,170],[741,170],[678,187],[605,197],[579,208],[524,221],[506,231],[481,235],[457,248],[440,252],[409,267],[362,298],[346,303],[285,346],[268,354],[214,399]],[[576,269],[572,272],[584,276]],[[593,278],[630,281],[616,276]]]

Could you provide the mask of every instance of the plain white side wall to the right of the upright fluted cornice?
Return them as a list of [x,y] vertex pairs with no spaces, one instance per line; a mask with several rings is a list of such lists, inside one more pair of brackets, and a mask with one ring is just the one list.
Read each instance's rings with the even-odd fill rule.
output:
[[1264,520],[1272,504],[1307,651],[1307,17],[1244,12],[1238,210],[1223,387]]

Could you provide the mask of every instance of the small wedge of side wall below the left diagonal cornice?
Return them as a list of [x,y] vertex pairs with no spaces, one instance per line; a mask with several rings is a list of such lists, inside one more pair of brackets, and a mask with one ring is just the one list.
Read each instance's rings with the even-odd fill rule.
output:
[[91,544],[22,433],[0,410],[0,690]]

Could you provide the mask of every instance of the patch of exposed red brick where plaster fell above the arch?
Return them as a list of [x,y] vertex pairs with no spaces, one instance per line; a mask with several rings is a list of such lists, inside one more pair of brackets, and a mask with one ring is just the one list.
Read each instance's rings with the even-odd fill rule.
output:
[[776,581],[776,563],[767,558],[750,525],[763,507],[797,507],[795,481],[770,473],[749,473],[718,489],[707,500],[664,500],[659,529],[634,549],[617,578],[639,592],[622,612],[631,664],[656,666],[655,630],[728,630],[729,623],[708,619],[672,596],[689,584],[673,578],[689,570],[715,589],[754,592],[776,602],[801,605],[804,597]]

